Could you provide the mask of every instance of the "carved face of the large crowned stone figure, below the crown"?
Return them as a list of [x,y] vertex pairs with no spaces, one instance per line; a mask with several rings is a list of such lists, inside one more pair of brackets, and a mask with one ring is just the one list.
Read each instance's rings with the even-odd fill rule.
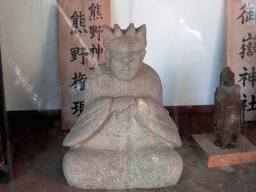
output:
[[107,50],[107,65],[121,80],[131,80],[141,68],[146,51]]

